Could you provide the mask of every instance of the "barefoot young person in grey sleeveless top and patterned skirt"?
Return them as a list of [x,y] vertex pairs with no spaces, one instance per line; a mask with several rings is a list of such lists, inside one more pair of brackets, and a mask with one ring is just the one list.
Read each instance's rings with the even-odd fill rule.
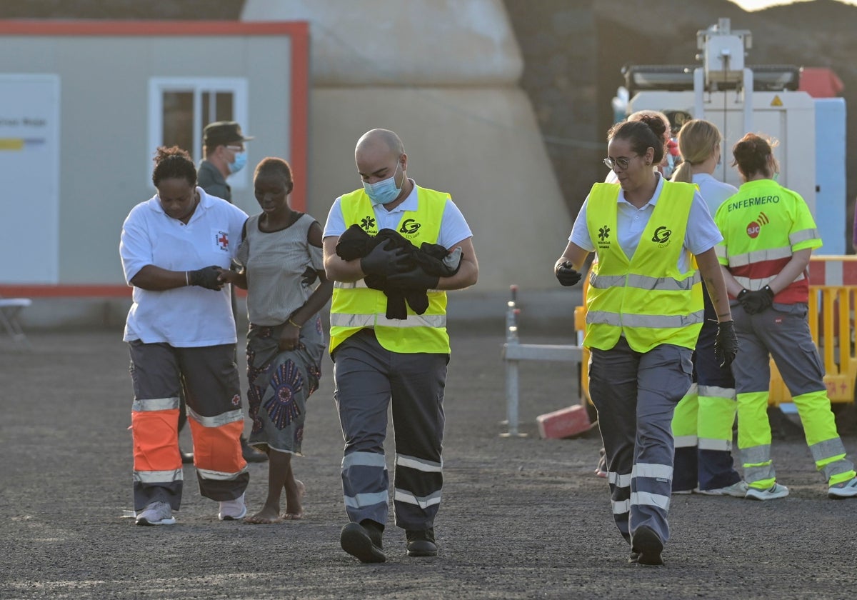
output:
[[[321,226],[289,206],[294,183],[285,160],[262,159],[254,174],[262,212],[249,219],[237,253],[242,270],[227,273],[247,290],[247,377],[250,444],[268,454],[268,492],[250,523],[303,516],[303,483],[291,455],[301,453],[306,401],[318,388],[326,343],[321,310],[331,297],[321,252]],[[318,279],[313,287],[310,279]],[[285,512],[280,494],[285,489]]]

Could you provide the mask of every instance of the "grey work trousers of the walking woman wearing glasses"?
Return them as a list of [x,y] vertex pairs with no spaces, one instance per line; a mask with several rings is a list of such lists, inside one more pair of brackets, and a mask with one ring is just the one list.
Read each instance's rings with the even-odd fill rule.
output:
[[624,337],[610,350],[591,351],[590,396],[604,442],[613,516],[628,542],[641,525],[668,540],[671,423],[691,385],[691,355],[690,348],[670,344],[633,351]]

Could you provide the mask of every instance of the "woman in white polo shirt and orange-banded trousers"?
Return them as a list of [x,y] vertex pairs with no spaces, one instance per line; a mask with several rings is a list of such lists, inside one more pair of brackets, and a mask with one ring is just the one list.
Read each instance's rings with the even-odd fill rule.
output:
[[182,501],[178,450],[180,379],[187,393],[200,493],[219,501],[219,519],[247,513],[241,387],[228,270],[247,214],[196,186],[196,168],[178,147],[159,147],[158,193],[131,209],[119,253],[134,286],[123,339],[129,344],[134,404],[137,525],[173,525]]

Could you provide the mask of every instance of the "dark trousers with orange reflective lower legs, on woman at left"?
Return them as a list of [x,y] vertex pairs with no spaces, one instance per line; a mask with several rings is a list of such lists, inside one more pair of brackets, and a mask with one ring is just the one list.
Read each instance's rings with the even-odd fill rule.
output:
[[249,473],[241,453],[243,413],[235,345],[175,348],[132,341],[129,351],[135,393],[131,411],[135,510],[153,501],[165,501],[173,510],[181,505],[181,381],[201,495],[217,501],[242,495]]

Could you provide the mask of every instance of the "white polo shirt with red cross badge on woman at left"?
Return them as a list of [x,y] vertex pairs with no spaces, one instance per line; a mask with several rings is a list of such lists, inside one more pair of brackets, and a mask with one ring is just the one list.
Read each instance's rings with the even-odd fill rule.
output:
[[[230,267],[247,214],[200,187],[196,191],[200,203],[187,225],[166,214],[157,195],[131,209],[119,243],[128,285],[147,265],[169,271]],[[182,348],[235,344],[229,285],[220,291],[197,285],[165,291],[135,287],[123,339]]]

